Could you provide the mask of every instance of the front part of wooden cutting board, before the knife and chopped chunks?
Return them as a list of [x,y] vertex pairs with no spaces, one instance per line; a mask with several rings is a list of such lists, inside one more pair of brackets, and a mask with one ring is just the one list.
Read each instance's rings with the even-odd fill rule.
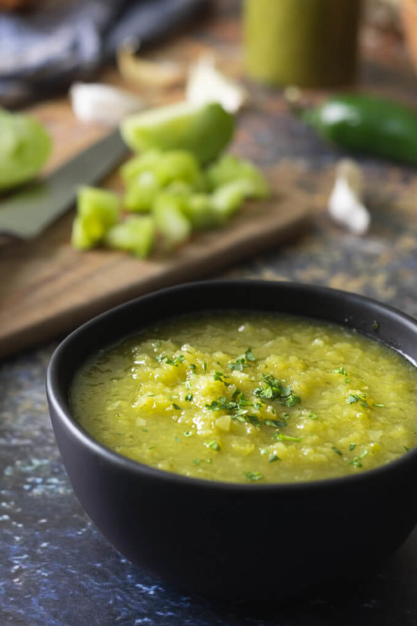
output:
[[73,211],[37,239],[3,248],[0,354],[51,339],[129,298],[211,275],[286,241],[306,225],[308,203],[300,192],[279,187],[271,200],[248,203],[226,227],[195,234],[181,249],[146,261],[111,250],[73,250]]

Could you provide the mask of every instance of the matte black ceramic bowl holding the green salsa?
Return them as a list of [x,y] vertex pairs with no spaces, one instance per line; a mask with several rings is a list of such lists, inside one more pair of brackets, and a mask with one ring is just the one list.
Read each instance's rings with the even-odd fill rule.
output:
[[322,287],[199,282],[117,307],[67,337],[47,374],[56,440],[85,511],[133,563],[188,591],[217,597],[285,597],[377,566],[416,524],[417,449],[375,470],[338,479],[220,483],[124,458],[73,419],[68,388],[85,358],[168,316],[213,305],[336,322],[417,359],[416,321],[373,300]]

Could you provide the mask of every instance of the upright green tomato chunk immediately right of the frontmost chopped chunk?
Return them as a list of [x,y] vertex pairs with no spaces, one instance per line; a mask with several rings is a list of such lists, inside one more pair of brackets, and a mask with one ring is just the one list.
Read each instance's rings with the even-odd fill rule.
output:
[[183,215],[181,198],[170,193],[158,193],[152,212],[156,227],[163,234],[168,246],[188,239],[191,234],[191,223]]

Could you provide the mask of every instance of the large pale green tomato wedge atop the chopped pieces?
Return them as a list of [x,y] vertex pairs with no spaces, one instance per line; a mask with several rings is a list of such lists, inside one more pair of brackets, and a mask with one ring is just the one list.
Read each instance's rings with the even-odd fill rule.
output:
[[231,141],[234,118],[220,104],[197,106],[179,102],[128,115],[122,120],[120,131],[126,144],[136,152],[152,148],[189,150],[200,163],[207,163]]

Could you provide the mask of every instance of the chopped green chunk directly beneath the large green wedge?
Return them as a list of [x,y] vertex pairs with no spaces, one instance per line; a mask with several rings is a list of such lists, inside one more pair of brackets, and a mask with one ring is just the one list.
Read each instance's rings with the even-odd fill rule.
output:
[[181,181],[196,190],[204,188],[204,177],[199,163],[194,154],[186,150],[170,150],[161,154],[153,171],[161,187]]

